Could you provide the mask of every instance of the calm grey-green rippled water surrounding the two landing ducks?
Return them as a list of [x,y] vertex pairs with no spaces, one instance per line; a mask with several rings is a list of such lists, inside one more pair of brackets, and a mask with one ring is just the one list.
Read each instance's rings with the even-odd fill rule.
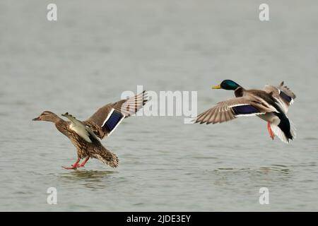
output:
[[[317,1],[0,2],[0,210],[318,210]],[[288,8],[286,8],[288,5]],[[86,119],[125,90],[198,91],[198,111],[245,88],[285,81],[298,95],[298,138],[271,141],[266,122],[184,124],[131,117],[102,143],[119,168],[90,160],[62,169],[76,150],[44,110]],[[57,205],[47,189],[57,188]],[[259,189],[269,189],[269,205]]]

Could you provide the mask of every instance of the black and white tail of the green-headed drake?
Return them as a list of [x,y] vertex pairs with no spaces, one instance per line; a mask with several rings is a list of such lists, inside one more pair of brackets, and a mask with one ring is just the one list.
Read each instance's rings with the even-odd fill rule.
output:
[[281,119],[280,123],[278,125],[271,124],[271,130],[281,141],[289,143],[290,140],[296,138],[296,128],[287,117],[281,117],[281,115],[278,117]]

